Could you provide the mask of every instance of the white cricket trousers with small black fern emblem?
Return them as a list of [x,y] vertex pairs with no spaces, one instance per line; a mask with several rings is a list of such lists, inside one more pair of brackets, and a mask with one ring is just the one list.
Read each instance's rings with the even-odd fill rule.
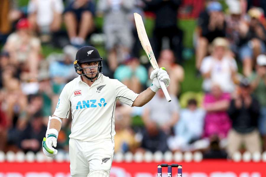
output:
[[80,141],[69,139],[70,174],[72,177],[87,177],[90,171],[103,170],[110,173],[114,141],[102,139]]

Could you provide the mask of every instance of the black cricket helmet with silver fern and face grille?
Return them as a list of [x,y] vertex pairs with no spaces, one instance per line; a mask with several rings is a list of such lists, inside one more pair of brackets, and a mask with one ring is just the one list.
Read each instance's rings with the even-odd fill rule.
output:
[[[92,68],[97,68],[97,73],[95,77],[92,76],[91,73],[87,73],[86,68],[81,68],[82,63],[91,63],[98,62],[98,66],[96,67],[88,67],[91,71]],[[84,46],[81,47],[76,54],[76,60],[74,61],[74,68],[77,74],[83,76],[85,79],[93,81],[95,78],[99,78],[99,74],[102,74],[103,68],[103,58],[100,57],[98,50],[92,46]],[[96,79],[96,80],[97,80]]]

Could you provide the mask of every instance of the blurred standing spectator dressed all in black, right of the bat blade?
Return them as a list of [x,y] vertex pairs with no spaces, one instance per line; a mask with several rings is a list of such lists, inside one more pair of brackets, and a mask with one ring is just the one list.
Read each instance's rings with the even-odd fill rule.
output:
[[177,27],[177,9],[181,4],[181,0],[145,0],[144,2],[146,3],[145,10],[152,11],[156,15],[153,30],[153,51],[155,58],[158,58],[160,55],[163,38],[168,37],[170,48],[175,52],[175,59],[180,62],[182,59],[183,31]]

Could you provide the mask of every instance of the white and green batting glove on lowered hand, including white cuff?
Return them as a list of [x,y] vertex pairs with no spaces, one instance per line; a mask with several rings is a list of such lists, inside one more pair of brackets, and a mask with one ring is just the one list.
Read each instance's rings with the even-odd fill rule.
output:
[[[43,138],[43,153],[48,157],[54,157],[57,154],[56,145],[57,145],[57,137],[58,132],[56,129],[47,130],[47,137]],[[55,147],[55,148],[53,148]]]

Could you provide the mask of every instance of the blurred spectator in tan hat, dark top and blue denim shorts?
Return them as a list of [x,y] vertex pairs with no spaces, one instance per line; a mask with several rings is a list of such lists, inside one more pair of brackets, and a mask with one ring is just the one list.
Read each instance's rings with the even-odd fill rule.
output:
[[251,18],[249,22],[241,23],[240,26],[240,59],[243,62],[243,73],[250,76],[252,73],[253,58],[257,58],[260,53],[266,52],[266,30],[261,23],[263,12],[258,8],[248,11]]

